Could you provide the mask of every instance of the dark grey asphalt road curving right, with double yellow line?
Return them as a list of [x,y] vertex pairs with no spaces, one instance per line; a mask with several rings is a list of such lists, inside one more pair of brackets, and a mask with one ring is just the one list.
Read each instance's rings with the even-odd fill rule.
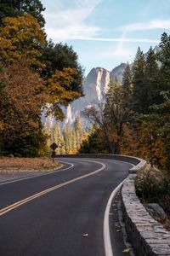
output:
[[132,166],[59,160],[70,164],[53,174],[0,184],[1,256],[105,256],[105,207]]

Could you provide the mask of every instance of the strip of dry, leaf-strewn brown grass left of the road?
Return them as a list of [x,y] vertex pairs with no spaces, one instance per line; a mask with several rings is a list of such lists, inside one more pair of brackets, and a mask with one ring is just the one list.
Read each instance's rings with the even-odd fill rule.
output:
[[7,171],[51,171],[59,167],[60,164],[48,157],[39,158],[19,158],[0,157],[0,172]]

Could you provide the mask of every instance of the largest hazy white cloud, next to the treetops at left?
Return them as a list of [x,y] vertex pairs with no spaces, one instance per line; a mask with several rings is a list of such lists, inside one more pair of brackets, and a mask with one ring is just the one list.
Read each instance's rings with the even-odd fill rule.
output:
[[69,39],[95,37],[100,34],[98,26],[87,24],[88,17],[102,0],[75,0],[74,6],[68,9],[59,9],[57,13],[46,13],[46,31],[48,38],[58,41]]

